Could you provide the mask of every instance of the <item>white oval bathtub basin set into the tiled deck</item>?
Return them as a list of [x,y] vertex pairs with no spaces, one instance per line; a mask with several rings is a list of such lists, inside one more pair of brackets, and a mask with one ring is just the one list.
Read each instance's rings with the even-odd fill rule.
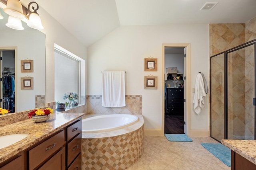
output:
[[138,117],[130,114],[99,115],[82,119],[83,133],[112,131],[130,126],[138,121]]

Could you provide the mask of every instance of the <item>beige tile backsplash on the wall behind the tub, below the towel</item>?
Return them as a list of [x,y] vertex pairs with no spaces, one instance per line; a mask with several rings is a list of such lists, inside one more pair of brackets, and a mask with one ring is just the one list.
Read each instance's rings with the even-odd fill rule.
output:
[[142,96],[126,95],[126,106],[124,107],[103,107],[101,95],[86,96],[86,108],[88,114],[142,114]]

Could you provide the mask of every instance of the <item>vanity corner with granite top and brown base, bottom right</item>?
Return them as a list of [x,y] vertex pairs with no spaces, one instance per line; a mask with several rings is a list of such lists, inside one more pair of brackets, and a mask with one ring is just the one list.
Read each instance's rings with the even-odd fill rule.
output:
[[256,170],[256,141],[224,139],[221,143],[231,149],[231,170]]

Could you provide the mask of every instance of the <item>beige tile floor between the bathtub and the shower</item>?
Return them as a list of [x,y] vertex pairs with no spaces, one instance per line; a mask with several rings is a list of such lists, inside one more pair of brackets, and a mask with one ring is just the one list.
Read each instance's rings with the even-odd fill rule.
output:
[[127,170],[230,170],[201,143],[218,143],[210,137],[190,137],[193,142],[169,142],[164,136],[145,136],[144,153]]

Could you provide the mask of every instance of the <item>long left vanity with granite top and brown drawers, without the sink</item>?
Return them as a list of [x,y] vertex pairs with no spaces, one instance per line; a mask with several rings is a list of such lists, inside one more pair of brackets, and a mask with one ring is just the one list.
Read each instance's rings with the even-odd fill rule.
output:
[[54,113],[46,122],[26,119],[0,127],[0,136],[28,134],[21,141],[0,149],[0,170],[81,169],[83,115]]

